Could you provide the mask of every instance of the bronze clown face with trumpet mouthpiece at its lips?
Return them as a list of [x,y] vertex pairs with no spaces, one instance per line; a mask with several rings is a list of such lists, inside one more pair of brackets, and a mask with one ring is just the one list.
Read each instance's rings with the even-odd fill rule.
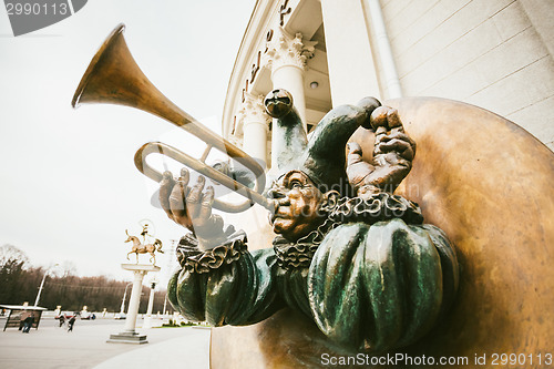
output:
[[268,195],[275,202],[271,217],[274,232],[288,240],[306,236],[324,221],[319,208],[325,196],[300,171],[290,171],[281,176]]

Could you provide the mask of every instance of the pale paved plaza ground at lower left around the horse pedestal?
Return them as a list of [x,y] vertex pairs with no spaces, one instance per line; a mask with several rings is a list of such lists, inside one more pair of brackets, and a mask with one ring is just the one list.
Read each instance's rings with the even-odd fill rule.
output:
[[[141,327],[141,321],[137,326]],[[3,322],[4,320],[0,320]],[[208,368],[209,329],[196,327],[142,330],[148,344],[106,344],[110,334],[123,330],[124,320],[76,320],[72,332],[44,318],[38,330],[0,331],[0,368]]]

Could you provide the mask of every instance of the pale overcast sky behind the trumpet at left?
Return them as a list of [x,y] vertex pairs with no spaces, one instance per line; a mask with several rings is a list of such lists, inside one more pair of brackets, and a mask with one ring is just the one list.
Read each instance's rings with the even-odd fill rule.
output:
[[[150,204],[155,184],[133,164],[145,142],[183,148],[178,130],[114,105],[70,105],[93,54],[123,22],[147,78],[191,115],[220,132],[227,83],[255,0],[94,0],[74,16],[14,38],[0,9],[0,245],[35,266],[72,263],[79,275],[132,280],[121,269],[151,219],[170,249],[184,229]],[[198,148],[199,150],[199,148]],[[167,255],[167,254],[166,254]],[[143,256],[144,257],[144,256]],[[132,258],[133,260],[133,258]],[[143,260],[146,260],[144,258]],[[165,267],[167,258],[160,257]]]

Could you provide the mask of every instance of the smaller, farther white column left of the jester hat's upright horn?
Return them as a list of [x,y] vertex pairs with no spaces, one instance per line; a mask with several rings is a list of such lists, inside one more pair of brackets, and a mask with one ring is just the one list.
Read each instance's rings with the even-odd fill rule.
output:
[[245,101],[237,114],[237,123],[243,124],[243,148],[252,157],[267,162],[267,130],[271,117],[264,107],[264,96],[245,93]]

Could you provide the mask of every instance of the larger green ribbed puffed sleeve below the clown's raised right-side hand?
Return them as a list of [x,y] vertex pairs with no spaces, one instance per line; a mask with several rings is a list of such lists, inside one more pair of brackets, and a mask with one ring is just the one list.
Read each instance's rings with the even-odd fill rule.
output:
[[416,341],[458,288],[458,262],[445,235],[401,219],[331,230],[308,273],[312,316],[339,345],[382,351]]

